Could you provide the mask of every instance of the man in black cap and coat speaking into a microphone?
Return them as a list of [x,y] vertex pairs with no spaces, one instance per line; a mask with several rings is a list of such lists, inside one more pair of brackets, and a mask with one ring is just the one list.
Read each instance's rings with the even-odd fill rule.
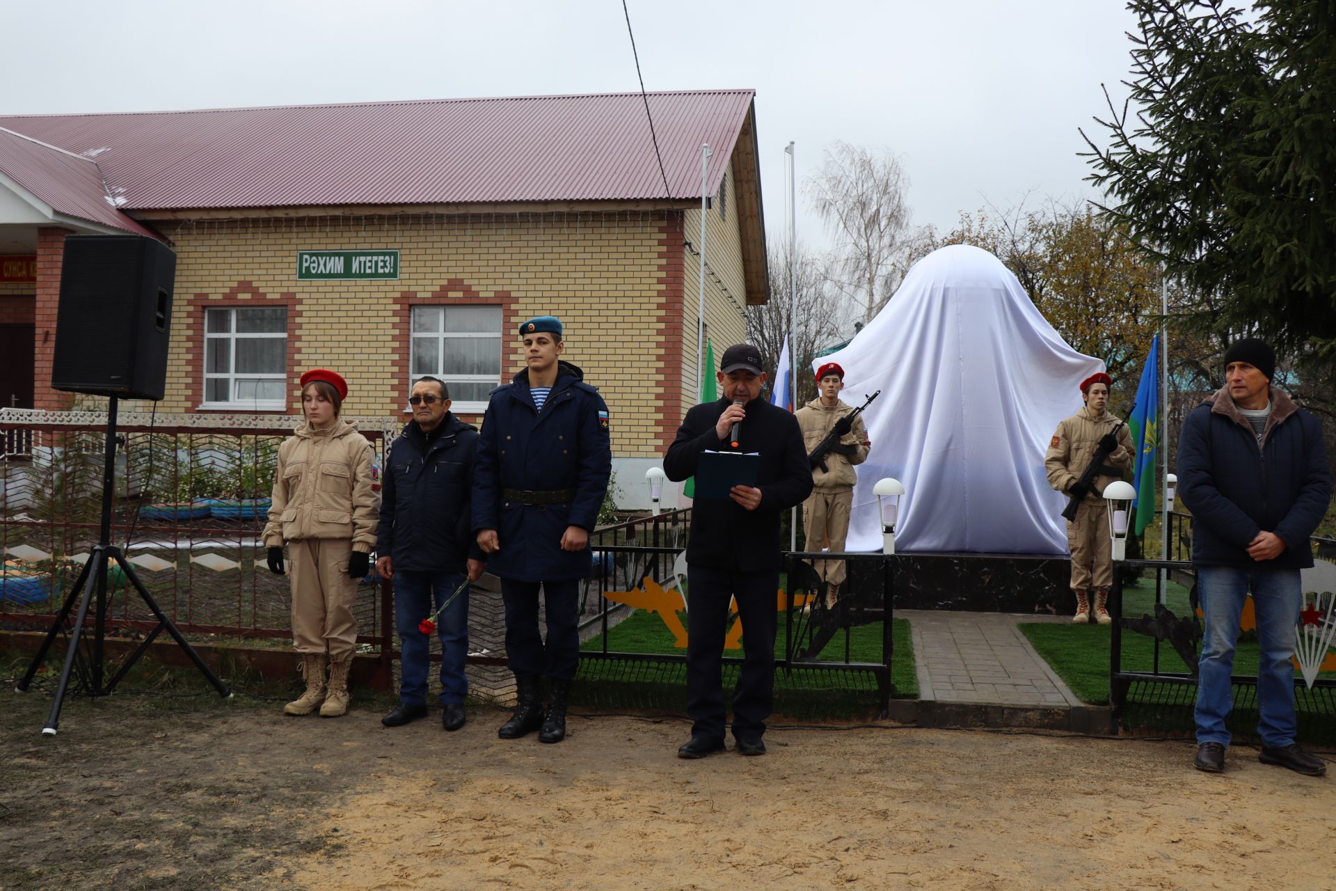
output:
[[743,622],[743,671],[733,692],[733,741],[741,755],[764,755],[766,719],[775,692],[775,628],[779,592],[779,518],[812,492],[812,474],[798,421],[758,398],[766,383],[760,350],[724,350],[720,399],[687,411],[664,456],[664,473],[681,481],[696,473],[705,450],[759,454],[756,485],[733,486],[727,498],[697,497],[687,544],[687,713],[691,740],[679,757],[724,748],[723,649],[728,602],[737,598]]

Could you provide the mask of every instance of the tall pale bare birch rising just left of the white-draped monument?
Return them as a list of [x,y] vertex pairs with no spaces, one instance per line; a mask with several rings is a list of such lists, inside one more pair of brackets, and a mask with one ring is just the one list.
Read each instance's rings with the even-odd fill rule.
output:
[[871,322],[904,274],[908,178],[888,151],[836,142],[804,183],[812,210],[835,240],[831,283]]

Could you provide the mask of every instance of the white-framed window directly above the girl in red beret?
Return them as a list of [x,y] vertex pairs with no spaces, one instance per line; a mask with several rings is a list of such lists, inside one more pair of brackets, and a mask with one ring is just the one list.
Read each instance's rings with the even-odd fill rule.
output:
[[204,310],[204,405],[283,410],[287,307]]

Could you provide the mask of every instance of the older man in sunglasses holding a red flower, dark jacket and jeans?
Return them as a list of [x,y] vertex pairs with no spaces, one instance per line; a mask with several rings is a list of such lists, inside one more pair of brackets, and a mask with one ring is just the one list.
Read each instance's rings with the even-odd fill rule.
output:
[[[409,403],[413,419],[385,458],[385,493],[375,569],[394,580],[399,632],[399,705],[381,719],[399,727],[426,716],[432,667],[430,629],[441,639],[441,724],[464,727],[464,676],[469,655],[469,590],[482,574],[484,554],[473,537],[469,498],[478,431],[450,413],[444,381],[418,378]],[[458,593],[457,593],[458,592]],[[452,600],[453,597],[453,600]]]

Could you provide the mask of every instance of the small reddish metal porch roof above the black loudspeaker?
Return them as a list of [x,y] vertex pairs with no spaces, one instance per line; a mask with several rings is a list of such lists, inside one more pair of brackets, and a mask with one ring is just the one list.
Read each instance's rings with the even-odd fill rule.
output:
[[8,176],[57,214],[152,235],[118,210],[98,164],[0,128],[0,174]]

